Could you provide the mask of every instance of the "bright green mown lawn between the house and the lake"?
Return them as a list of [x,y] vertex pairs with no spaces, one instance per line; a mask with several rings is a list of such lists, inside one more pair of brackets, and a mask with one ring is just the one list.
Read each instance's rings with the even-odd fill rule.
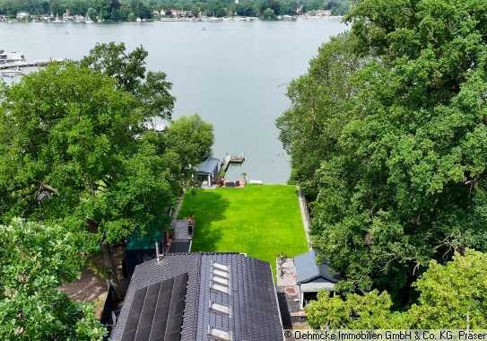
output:
[[184,198],[179,217],[188,214],[196,218],[192,251],[245,252],[274,269],[280,253],[308,250],[294,186],[200,189]]

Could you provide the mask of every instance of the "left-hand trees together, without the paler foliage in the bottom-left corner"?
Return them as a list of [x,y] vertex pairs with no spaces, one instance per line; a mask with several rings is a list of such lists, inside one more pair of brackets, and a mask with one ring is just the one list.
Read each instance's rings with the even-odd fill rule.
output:
[[[145,71],[143,48],[98,45],[78,65],[62,63],[3,86],[0,211],[58,223],[98,240],[118,287],[114,247],[133,232],[170,225],[170,209],[211,153],[213,127],[171,121],[165,74]],[[164,132],[153,120],[171,122]]]

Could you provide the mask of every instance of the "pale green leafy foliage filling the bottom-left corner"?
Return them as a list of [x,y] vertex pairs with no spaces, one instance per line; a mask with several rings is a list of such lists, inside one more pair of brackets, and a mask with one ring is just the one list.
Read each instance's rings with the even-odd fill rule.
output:
[[105,329],[91,307],[71,302],[57,290],[79,275],[94,241],[59,225],[15,219],[0,226],[2,339],[102,339]]

